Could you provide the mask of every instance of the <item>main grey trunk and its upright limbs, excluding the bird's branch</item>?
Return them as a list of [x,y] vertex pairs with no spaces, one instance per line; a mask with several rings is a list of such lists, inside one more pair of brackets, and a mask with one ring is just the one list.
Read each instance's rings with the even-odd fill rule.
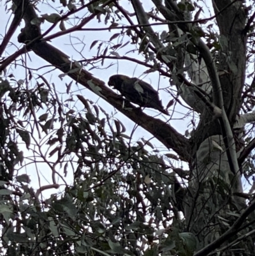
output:
[[[168,10],[157,0],[154,0],[154,3],[168,20],[173,21],[176,16],[180,20],[191,18],[187,15],[180,18],[181,13],[175,9],[174,1],[165,1]],[[220,30],[219,63],[217,65],[214,63],[205,43],[196,37],[191,39],[191,42],[202,57],[200,65],[197,64],[199,61],[196,61],[198,56],[194,54],[194,61],[191,61],[191,53],[187,49],[184,50],[185,56],[182,56],[183,51],[179,51],[178,56],[179,60],[182,59],[178,72],[183,72],[182,63],[185,62],[190,79],[196,86],[200,83],[207,85],[203,88],[204,91],[211,94],[213,103],[222,110],[221,117],[212,118],[212,112],[208,108],[205,110],[201,96],[194,90],[196,87],[187,86],[187,83],[182,84],[183,88],[180,88],[182,98],[201,114],[200,124],[191,138],[194,142],[194,159],[192,175],[184,199],[184,216],[187,231],[195,234],[198,239],[197,250],[200,252],[196,255],[207,255],[212,252],[216,246],[215,241],[219,242],[217,246],[224,245],[223,248],[228,248],[228,250],[220,250],[222,255],[246,255],[246,253],[249,255],[254,253],[255,249],[254,239],[251,237],[247,237],[242,243],[238,241],[236,246],[233,244],[230,248],[227,246],[237,239],[237,236],[228,236],[234,227],[233,213],[242,215],[246,207],[244,198],[234,196],[242,193],[242,181],[237,163],[240,149],[235,147],[233,132],[238,128],[243,129],[244,123],[253,121],[254,116],[253,114],[237,116],[242,103],[241,92],[245,79],[247,43],[245,7],[242,1],[216,0],[213,4]],[[175,10],[176,16],[171,15],[172,10]],[[181,35],[191,32],[189,25],[184,24],[179,28],[182,30]],[[196,31],[195,26],[192,29]],[[217,72],[222,70],[224,72],[219,76]],[[177,79],[175,84],[177,87],[180,86]],[[242,135],[239,134],[239,139],[240,136]],[[253,148],[254,143],[251,142],[242,152],[239,165]],[[249,228],[242,232],[240,234],[248,233]],[[207,250],[202,250],[203,248]]]

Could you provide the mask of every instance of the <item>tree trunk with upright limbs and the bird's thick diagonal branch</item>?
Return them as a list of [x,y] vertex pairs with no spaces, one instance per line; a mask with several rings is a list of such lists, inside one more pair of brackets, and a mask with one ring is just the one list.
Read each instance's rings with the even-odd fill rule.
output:
[[[13,2],[20,6],[19,0],[13,0]],[[166,1],[166,6],[159,0],[152,0],[152,2],[166,20],[173,22],[189,19],[189,15],[181,12],[175,1]],[[186,45],[181,45],[175,49],[178,70],[174,70],[173,64],[168,63],[168,67],[173,72],[173,84],[182,89],[184,100],[200,112],[200,124],[190,140],[178,133],[170,124],[147,116],[129,102],[125,102],[125,106],[132,110],[123,109],[122,99],[106,87],[103,81],[96,79],[91,73],[69,61],[69,56],[42,40],[40,27],[31,24],[31,20],[37,18],[33,6],[29,4],[28,0],[24,0],[22,3],[22,8],[25,6],[22,13],[25,27],[18,40],[25,43],[27,50],[33,51],[87,89],[98,93],[106,102],[152,133],[166,147],[176,151],[180,158],[189,163],[192,174],[183,207],[186,230],[192,232],[198,239],[196,250],[199,252],[196,255],[207,255],[219,246],[228,248],[228,245],[238,239],[238,236],[249,233],[249,227],[243,228],[243,225],[251,211],[244,210],[245,199],[236,195],[242,193],[242,182],[237,164],[240,152],[237,152],[233,140],[234,126],[243,128],[245,122],[253,120],[252,115],[244,117],[245,121],[237,121],[241,107],[241,92],[244,87],[247,43],[244,33],[246,15],[242,1],[214,1],[214,10],[218,14],[216,19],[221,43],[218,66],[210,57],[207,45],[195,36],[189,43],[200,53],[191,53]],[[132,1],[132,3],[138,20],[143,24],[148,24],[140,1]],[[179,29],[182,33],[192,34],[191,32],[194,31],[191,29],[197,28],[184,23],[180,23],[178,27],[169,27],[175,27],[176,36],[180,36]],[[158,59],[161,59],[164,54],[161,41],[152,28],[147,27],[145,31]],[[196,61],[191,61],[191,54],[193,54],[192,59],[194,60],[203,57],[200,65]],[[70,66],[73,69],[77,68],[77,72],[70,73]],[[207,101],[201,99],[201,94],[194,94],[194,90],[187,87],[187,84],[183,84],[184,89],[180,88],[183,82],[180,81],[180,77],[184,75],[185,66],[188,68],[189,77],[195,86],[206,83],[202,89],[208,94],[207,101],[210,102],[210,99],[213,99],[212,109],[204,108]],[[219,76],[217,71],[222,70],[224,73]],[[194,102],[189,101],[192,96],[196,97]],[[196,107],[196,104],[200,103],[202,108]],[[214,106],[221,110],[219,116],[215,116],[213,113]],[[253,148],[253,144],[251,148]],[[239,165],[247,156],[247,151],[251,152],[251,148],[242,151],[245,153],[240,155]],[[253,206],[254,204],[252,204]],[[249,209],[253,209],[252,207]],[[240,216],[240,219],[237,216]],[[214,246],[217,247],[214,248]],[[203,251],[203,248],[207,248],[207,250]],[[226,252],[223,252],[222,248],[219,250],[223,253],[222,255],[251,255],[255,251],[254,239],[252,240],[250,236],[243,236],[243,239],[238,240],[237,245],[231,245]]]

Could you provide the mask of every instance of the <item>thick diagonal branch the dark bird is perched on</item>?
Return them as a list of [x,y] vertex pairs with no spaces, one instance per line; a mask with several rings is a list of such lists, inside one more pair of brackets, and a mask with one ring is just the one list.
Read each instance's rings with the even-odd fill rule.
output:
[[[25,3],[29,3],[28,0],[24,1]],[[34,38],[32,38],[32,36],[40,38],[40,27],[35,27],[35,25],[31,26],[31,20],[36,18],[37,15],[33,10],[33,6],[28,4],[27,8],[24,10],[25,28],[23,29],[21,36],[19,36],[20,42],[27,42],[27,38],[33,41]],[[61,52],[61,50],[53,47],[47,42],[35,40],[33,43],[27,43],[27,47],[28,50],[33,50],[36,55],[61,70],[71,77],[71,79],[79,82],[82,86],[87,87],[87,89],[93,93],[101,96],[101,98],[122,112],[122,114],[152,133],[152,135],[161,141],[164,146],[176,151],[185,161],[191,161],[191,155],[189,154],[189,152],[191,152],[189,140],[173,129],[170,124],[167,124],[160,119],[147,116],[140,108],[134,107],[131,103],[124,100],[124,98],[113,93],[110,88],[105,86],[105,82],[96,79],[91,73],[78,66],[77,63],[69,61],[69,57],[64,54],[64,52]],[[72,72],[70,72],[70,70],[72,70]],[[76,71],[74,72],[74,70]],[[122,107],[123,101],[125,102],[126,108]]]

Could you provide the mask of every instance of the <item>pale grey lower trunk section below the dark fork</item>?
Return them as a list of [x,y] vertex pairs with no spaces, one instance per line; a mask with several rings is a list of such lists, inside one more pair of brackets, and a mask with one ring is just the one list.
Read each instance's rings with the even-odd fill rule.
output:
[[[236,192],[242,193],[240,174],[231,172],[222,136],[214,135],[204,140],[196,152],[193,174],[184,199],[187,231],[196,235],[197,250],[219,239],[244,211],[245,199],[233,196]],[[238,236],[249,231],[249,228],[241,230]],[[222,247],[235,239],[237,236],[222,243]],[[223,252],[221,255],[252,255],[255,252],[254,241],[248,237]]]

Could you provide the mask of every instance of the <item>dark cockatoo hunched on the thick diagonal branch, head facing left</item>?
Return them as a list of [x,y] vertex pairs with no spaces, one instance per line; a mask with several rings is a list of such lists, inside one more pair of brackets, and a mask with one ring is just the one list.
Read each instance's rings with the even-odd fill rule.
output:
[[108,85],[117,89],[129,102],[135,103],[140,107],[157,109],[163,114],[168,115],[168,111],[164,109],[161,100],[159,100],[159,94],[147,82],[143,82],[136,77],[112,75]]

